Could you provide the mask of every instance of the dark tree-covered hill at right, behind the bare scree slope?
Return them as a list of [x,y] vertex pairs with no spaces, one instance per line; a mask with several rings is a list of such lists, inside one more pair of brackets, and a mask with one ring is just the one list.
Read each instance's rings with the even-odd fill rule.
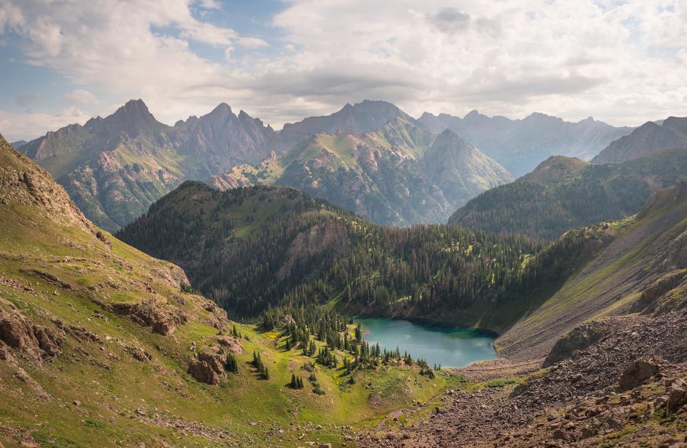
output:
[[687,148],[608,165],[551,157],[529,175],[469,201],[449,223],[554,240],[572,227],[631,216],[651,192],[686,179]]

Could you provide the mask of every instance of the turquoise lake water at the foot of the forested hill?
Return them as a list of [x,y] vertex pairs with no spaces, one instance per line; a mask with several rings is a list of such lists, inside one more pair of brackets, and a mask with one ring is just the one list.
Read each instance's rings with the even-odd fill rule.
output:
[[427,325],[399,319],[359,318],[363,338],[413,359],[425,358],[429,366],[464,367],[475,361],[494,359],[493,335],[475,328]]

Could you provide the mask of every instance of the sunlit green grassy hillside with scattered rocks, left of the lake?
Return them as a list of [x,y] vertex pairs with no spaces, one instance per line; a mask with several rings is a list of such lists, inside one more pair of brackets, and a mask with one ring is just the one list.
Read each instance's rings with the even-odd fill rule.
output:
[[[236,324],[188,293],[179,267],[93,226],[65,191],[0,138],[0,443],[14,446],[296,446],[427,400],[460,377],[380,365],[346,374],[278,333]],[[352,329],[348,328],[352,333]],[[324,341],[313,339],[317,347]],[[269,379],[250,365],[260,352]],[[189,367],[232,353],[218,384]],[[337,351],[339,361],[343,353]],[[202,370],[202,369],[201,369]],[[350,377],[357,379],[349,383]],[[317,427],[321,425],[322,427]]]

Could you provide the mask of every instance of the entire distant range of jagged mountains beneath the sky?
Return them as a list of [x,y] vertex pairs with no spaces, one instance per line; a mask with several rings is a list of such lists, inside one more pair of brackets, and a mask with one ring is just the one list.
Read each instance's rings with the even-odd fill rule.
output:
[[168,126],[132,100],[108,117],[16,145],[89,219],[114,232],[188,179],[218,188],[293,186],[377,223],[442,222],[480,192],[512,181],[511,172],[555,153],[591,157],[629,131],[542,114],[509,120],[425,113],[416,120],[370,100],[278,132],[224,103]]

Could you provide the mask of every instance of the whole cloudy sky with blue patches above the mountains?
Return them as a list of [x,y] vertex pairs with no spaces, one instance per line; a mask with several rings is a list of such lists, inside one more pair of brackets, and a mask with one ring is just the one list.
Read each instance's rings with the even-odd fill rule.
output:
[[280,128],[365,98],[412,115],[687,115],[687,0],[0,0],[0,133],[142,98]]

